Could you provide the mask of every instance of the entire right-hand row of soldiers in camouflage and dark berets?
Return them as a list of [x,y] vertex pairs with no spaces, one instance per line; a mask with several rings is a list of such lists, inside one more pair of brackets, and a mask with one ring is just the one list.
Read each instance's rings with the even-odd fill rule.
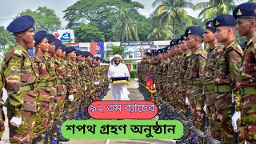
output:
[[[238,44],[237,32],[246,42]],[[170,46],[147,52],[138,64],[138,78],[141,86],[151,86],[151,101],[161,107],[160,96],[189,113],[193,125],[212,138],[256,143],[256,3],[242,3],[233,15],[218,15],[205,30],[190,26]],[[191,139],[203,142],[195,134]]]

